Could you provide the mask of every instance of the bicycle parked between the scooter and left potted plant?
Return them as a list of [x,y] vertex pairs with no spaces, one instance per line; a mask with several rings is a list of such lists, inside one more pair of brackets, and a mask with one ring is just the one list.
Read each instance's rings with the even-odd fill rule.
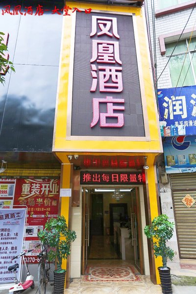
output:
[[48,260],[48,251],[45,245],[42,244],[42,251],[38,254],[40,258],[38,265],[38,289],[39,294],[46,294],[46,287],[50,282],[52,286],[52,282],[50,281],[49,271],[50,271],[50,263]]

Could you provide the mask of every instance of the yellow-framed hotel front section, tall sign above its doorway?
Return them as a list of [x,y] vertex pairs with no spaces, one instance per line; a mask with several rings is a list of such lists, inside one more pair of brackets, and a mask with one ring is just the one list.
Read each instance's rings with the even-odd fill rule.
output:
[[70,276],[105,258],[103,247],[101,256],[92,253],[101,242],[128,259],[123,229],[135,221],[131,259],[159,283],[160,259],[143,232],[160,213],[155,163],[162,145],[144,10],[131,2],[66,2],[74,12],[63,24],[52,150],[62,163],[62,189],[72,189],[72,198],[61,197],[61,214],[78,236]]

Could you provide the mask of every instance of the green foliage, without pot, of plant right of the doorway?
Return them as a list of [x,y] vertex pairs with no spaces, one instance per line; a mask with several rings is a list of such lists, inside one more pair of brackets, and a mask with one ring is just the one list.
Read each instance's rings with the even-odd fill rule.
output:
[[153,242],[155,257],[162,257],[164,269],[167,268],[167,259],[172,260],[174,256],[174,251],[166,246],[166,242],[172,238],[173,226],[174,223],[169,221],[168,216],[162,214],[144,228],[145,235]]

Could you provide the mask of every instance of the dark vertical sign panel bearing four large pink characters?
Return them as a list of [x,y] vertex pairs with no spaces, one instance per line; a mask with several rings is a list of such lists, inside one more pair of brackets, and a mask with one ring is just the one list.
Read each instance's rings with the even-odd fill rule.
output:
[[71,137],[145,137],[131,14],[76,13],[70,122]]

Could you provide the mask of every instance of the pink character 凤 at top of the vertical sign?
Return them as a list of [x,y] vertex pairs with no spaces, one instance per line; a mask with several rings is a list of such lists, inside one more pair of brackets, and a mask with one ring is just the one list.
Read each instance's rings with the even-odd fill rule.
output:
[[[100,32],[98,32],[98,36],[107,35],[112,37],[113,35],[119,39],[119,34],[117,31],[117,18],[115,17],[103,17],[103,16],[92,16],[92,32],[90,34],[91,37],[95,36],[97,33],[97,23],[100,28]],[[109,32],[112,26],[112,33]]]

